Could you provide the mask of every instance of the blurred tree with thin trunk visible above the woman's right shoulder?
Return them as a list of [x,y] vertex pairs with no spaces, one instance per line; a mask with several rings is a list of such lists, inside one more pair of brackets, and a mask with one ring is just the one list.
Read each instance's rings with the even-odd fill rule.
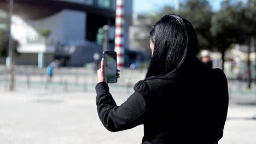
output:
[[242,2],[224,1],[219,11],[212,17],[211,33],[214,48],[222,53],[222,69],[224,70],[225,52],[234,43],[242,43],[243,28],[238,25],[243,20]]

